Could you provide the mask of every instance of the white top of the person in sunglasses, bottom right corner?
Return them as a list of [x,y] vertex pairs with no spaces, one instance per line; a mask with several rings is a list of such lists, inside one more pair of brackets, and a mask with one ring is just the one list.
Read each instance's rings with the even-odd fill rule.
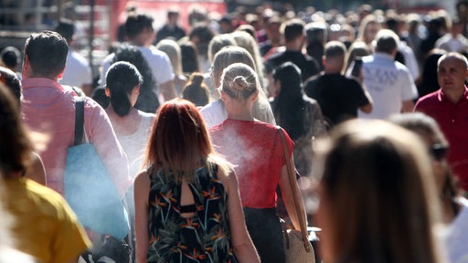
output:
[[447,256],[452,263],[468,262],[468,200],[459,198],[459,214],[446,229],[444,239]]

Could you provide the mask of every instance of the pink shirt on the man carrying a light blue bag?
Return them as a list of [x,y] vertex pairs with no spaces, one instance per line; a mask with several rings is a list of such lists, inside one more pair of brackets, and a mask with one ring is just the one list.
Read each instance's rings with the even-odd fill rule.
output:
[[[23,120],[30,130],[44,134],[48,139],[45,149],[39,149],[46,168],[47,185],[63,195],[67,149],[73,145],[75,131],[76,94],[52,79],[28,78],[23,79],[22,84]],[[133,183],[128,174],[127,157],[106,112],[90,98],[85,99],[84,123],[90,142],[122,196]]]

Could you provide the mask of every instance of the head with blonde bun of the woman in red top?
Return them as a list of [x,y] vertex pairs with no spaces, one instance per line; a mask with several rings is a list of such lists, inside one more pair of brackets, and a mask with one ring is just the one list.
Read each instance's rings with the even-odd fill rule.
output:
[[220,91],[235,100],[247,100],[259,92],[257,73],[244,63],[234,63],[224,68],[221,75]]

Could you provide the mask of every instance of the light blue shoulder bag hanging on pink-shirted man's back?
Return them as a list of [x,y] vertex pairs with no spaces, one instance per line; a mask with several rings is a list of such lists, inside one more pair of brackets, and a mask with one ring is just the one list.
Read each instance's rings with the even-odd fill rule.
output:
[[84,129],[84,98],[75,98],[75,139],[67,153],[65,199],[81,225],[122,240],[130,231],[128,213]]

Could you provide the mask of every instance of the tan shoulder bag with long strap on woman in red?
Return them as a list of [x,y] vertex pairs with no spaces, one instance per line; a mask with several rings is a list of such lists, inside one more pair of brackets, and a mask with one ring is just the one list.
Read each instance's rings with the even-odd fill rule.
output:
[[284,152],[284,160],[286,161],[286,169],[288,170],[288,177],[289,182],[293,188],[293,199],[294,205],[296,206],[297,217],[299,218],[299,225],[301,226],[301,230],[296,230],[290,228],[286,229],[286,224],[282,224],[283,226],[283,234],[284,234],[284,254],[286,256],[287,263],[314,263],[314,248],[312,244],[309,242],[307,238],[307,226],[305,224],[305,220],[303,216],[301,216],[300,211],[303,209],[301,205],[297,202],[296,195],[297,195],[297,188],[293,187],[294,184],[297,184],[296,175],[293,173],[292,163],[289,162],[288,158],[288,147],[286,145],[286,139],[284,138],[284,134],[282,133],[282,128],[277,126],[276,129],[278,133],[280,133],[280,138],[282,140],[282,150]]

